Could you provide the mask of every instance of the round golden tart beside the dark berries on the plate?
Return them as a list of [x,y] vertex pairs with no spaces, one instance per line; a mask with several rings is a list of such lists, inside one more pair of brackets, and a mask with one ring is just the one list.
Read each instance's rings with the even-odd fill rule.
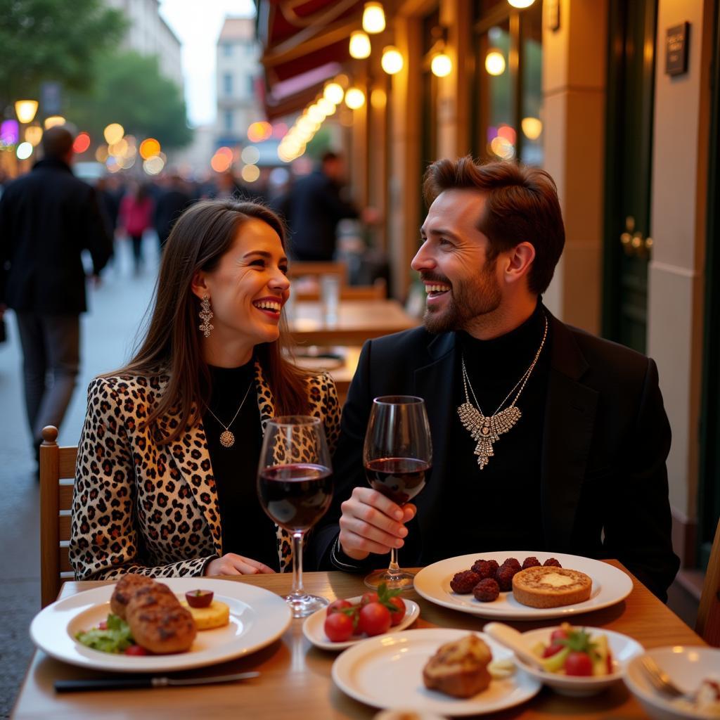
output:
[[531,608],[559,608],[590,598],[593,580],[567,567],[528,567],[513,576],[513,597]]

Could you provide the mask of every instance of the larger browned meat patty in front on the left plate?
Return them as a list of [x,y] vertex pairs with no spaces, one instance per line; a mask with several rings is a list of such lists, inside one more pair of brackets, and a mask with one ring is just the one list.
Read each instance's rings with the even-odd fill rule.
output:
[[129,624],[135,642],[157,654],[185,652],[197,634],[192,614],[180,603],[140,608]]

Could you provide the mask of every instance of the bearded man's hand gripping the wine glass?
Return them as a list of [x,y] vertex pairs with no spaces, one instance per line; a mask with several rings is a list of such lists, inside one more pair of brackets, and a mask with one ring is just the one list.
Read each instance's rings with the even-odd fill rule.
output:
[[340,544],[343,552],[355,560],[371,552],[385,554],[405,544],[405,523],[417,513],[415,505],[396,505],[369,487],[356,487],[341,509]]

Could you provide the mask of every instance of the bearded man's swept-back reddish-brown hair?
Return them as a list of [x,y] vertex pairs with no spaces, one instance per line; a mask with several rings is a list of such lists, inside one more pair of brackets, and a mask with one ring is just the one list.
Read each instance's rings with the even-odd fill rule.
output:
[[552,280],[565,244],[557,187],[544,170],[513,162],[475,163],[469,156],[437,160],[428,167],[423,193],[429,205],[441,192],[477,189],[485,195],[478,230],[487,236],[492,260],[527,241],[535,248],[528,289],[540,294]]

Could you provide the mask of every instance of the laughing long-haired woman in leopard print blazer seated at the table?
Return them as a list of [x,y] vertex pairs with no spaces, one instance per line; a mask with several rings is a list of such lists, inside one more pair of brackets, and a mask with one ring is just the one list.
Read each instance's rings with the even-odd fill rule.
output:
[[291,567],[289,536],[256,497],[262,428],[315,415],[332,448],[333,381],[282,355],[289,297],[279,218],[201,202],[168,238],[145,340],[97,377],[78,445],[76,577],[236,575]]

